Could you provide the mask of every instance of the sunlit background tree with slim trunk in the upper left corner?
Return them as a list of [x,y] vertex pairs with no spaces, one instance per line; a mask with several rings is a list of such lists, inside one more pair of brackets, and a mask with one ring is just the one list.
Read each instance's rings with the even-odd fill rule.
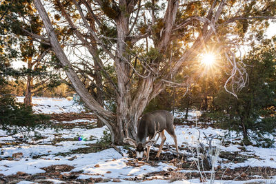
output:
[[[1,1],[1,41],[6,61],[26,62],[27,68],[21,68],[21,78],[26,77],[26,106],[32,105],[32,94],[60,84],[57,70],[50,65],[50,44],[42,34],[42,23],[32,1]],[[41,39],[41,41],[38,41]],[[48,57],[48,58],[46,58]],[[4,58],[4,57],[2,57]]]

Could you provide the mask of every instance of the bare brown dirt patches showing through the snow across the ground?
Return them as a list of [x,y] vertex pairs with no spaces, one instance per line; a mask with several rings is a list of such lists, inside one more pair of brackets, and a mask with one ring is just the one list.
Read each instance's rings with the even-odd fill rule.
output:
[[[87,113],[66,113],[66,114],[52,114],[51,119],[55,121],[72,121],[77,119],[86,119],[88,121],[86,122],[77,122],[77,123],[57,123],[61,127],[64,128],[74,128],[74,127],[86,127],[86,128],[92,128],[95,127],[95,122],[93,119],[95,119],[94,116]],[[195,121],[186,121],[184,119],[175,119],[175,124],[177,125],[190,125],[195,126]],[[209,126],[215,126],[213,123],[199,123],[199,127],[206,128]],[[56,142],[60,141],[74,141],[74,139],[55,139]],[[4,146],[8,143],[1,143],[1,145]],[[170,145],[173,147],[173,145]],[[59,154],[61,156],[67,156],[69,154],[88,154],[91,152],[99,152],[101,150],[105,150],[109,148],[110,145],[104,145],[104,144],[89,144],[88,147],[79,148],[77,150],[72,150],[67,153]],[[159,147],[159,145],[155,145],[155,147]],[[189,152],[186,145],[181,145],[179,147],[179,150],[186,150]],[[191,161],[186,156],[179,156],[177,154],[171,154],[170,152],[166,152],[167,147],[164,145],[164,152],[160,155],[159,158],[156,158],[157,151],[150,150],[150,159],[149,161],[137,161],[135,159],[135,152],[128,148],[128,154],[130,159],[128,160],[128,163],[126,163],[128,166],[132,167],[141,167],[142,165],[150,165],[152,167],[158,167],[159,163],[167,163],[168,165],[175,166],[175,169],[170,169],[168,171],[161,171],[161,172],[151,172],[148,173],[142,177],[133,176],[131,178],[128,178],[129,181],[149,181],[153,179],[157,179],[159,177],[168,179],[170,181],[177,181],[181,179],[191,179],[191,178],[200,178],[199,173],[197,172],[197,165],[195,164],[195,161]],[[227,161],[224,162],[234,162],[234,163],[242,163],[250,158],[257,158],[255,155],[242,155],[239,154],[239,152],[221,152],[219,155],[221,159],[227,159]],[[41,155],[39,156],[41,157]],[[3,158],[3,159],[9,159],[9,158]],[[12,158],[10,158],[12,159]],[[35,159],[35,158],[32,158]],[[38,159],[38,158],[37,158]],[[76,159],[74,156],[70,158],[69,160]],[[258,158],[257,158],[258,159]],[[208,170],[208,165],[204,163],[205,170]],[[71,165],[50,165],[49,167],[42,167],[42,170],[45,170],[45,173],[41,174],[26,174],[25,172],[17,172],[17,174],[10,175],[10,176],[3,176],[3,174],[0,174],[0,184],[1,183],[19,183],[19,181],[32,181],[35,183],[52,183],[51,181],[48,181],[48,179],[58,179],[59,181],[63,181],[66,183],[100,183],[100,182],[108,182],[108,181],[114,181],[119,182],[120,179],[118,178],[102,178],[99,174],[99,177],[96,178],[89,178],[89,179],[77,179],[80,174],[83,174],[83,171],[79,172],[71,172],[72,169],[74,169]],[[181,170],[186,170],[188,172],[181,172]],[[234,170],[230,170],[229,168],[221,168],[217,167],[215,170],[215,178],[217,180],[242,180],[246,181],[249,179],[257,178],[257,176],[260,176],[262,178],[270,178],[270,176],[276,175],[276,169],[270,168],[270,167],[239,167]],[[210,178],[210,173],[204,173],[204,176],[207,178]]]

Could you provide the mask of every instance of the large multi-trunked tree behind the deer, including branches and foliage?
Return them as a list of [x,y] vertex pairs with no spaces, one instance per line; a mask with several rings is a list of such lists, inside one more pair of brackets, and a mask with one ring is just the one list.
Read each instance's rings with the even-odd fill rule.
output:
[[[237,88],[227,88],[227,84],[235,87],[236,83],[239,86],[245,83],[239,76],[243,65],[237,65],[233,55],[235,46],[247,38],[246,32],[265,30],[268,19],[275,19],[275,1],[43,3],[34,0],[47,32],[47,36],[37,37],[38,41],[50,43],[72,86],[108,126],[112,142],[117,144],[122,143],[126,131],[135,136],[137,120],[148,103],[174,82],[179,72],[195,65],[195,58],[206,51],[206,43],[210,41],[217,42],[216,50],[226,58],[229,65],[226,72],[230,76],[225,86],[235,95]],[[67,33],[68,39],[61,39]],[[74,57],[65,52],[69,48]],[[101,84],[108,83],[112,88],[112,97],[103,95],[115,99],[115,113],[103,108],[91,94],[87,81],[98,88],[93,87],[94,92],[105,88],[97,83],[97,77],[106,81]],[[128,122],[131,123],[126,127]]]

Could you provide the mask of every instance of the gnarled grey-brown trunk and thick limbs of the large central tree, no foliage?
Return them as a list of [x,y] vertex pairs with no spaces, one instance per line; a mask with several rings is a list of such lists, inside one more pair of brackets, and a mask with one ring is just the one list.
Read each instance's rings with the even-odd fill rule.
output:
[[[184,61],[194,57],[197,54],[197,50],[200,50],[203,45],[202,40],[207,41],[208,39],[210,39],[210,36],[213,34],[213,30],[206,30],[206,32],[202,33],[201,37],[199,37],[197,41],[195,41],[195,44],[192,46],[192,48],[190,50],[187,50],[183,54],[181,59],[179,59],[179,61],[175,62],[175,65],[172,66],[170,71],[168,71],[166,66],[164,66],[164,75],[157,76],[156,74],[157,71],[160,70],[160,68],[162,69],[161,65],[156,65],[156,63],[160,64],[164,61],[155,61],[155,63],[149,63],[148,65],[146,65],[146,68],[148,67],[150,69],[145,69],[143,74],[144,77],[141,77],[139,79],[139,83],[136,83],[136,86],[132,86],[132,72],[135,71],[135,66],[133,67],[131,64],[133,55],[130,53],[130,49],[132,45],[134,45],[137,41],[143,38],[147,38],[148,35],[150,35],[150,33],[148,32],[143,35],[138,35],[137,37],[130,37],[130,32],[133,28],[133,26],[130,25],[131,23],[136,23],[137,19],[130,23],[129,15],[132,14],[132,12],[135,10],[135,6],[139,1],[119,0],[116,2],[112,2],[112,9],[110,9],[110,6],[106,6],[106,3],[103,3],[103,1],[96,0],[98,5],[103,9],[103,12],[108,14],[109,19],[113,19],[112,22],[115,23],[117,35],[115,39],[116,50],[114,52],[110,52],[110,50],[105,47],[101,39],[97,37],[95,30],[91,28],[91,24],[89,25],[88,21],[90,17],[87,17],[85,14],[83,14],[81,6],[86,6],[86,11],[89,12],[89,15],[96,21],[99,21],[93,10],[91,10],[88,1],[81,0],[78,2],[77,0],[73,0],[72,2],[77,7],[81,20],[83,21],[83,26],[86,27],[90,37],[93,37],[92,39],[90,39],[90,41],[93,42],[92,44],[98,44],[99,47],[101,47],[101,49],[108,55],[108,57],[112,59],[112,61],[114,61],[115,72],[117,76],[116,83],[110,79],[108,72],[106,72],[106,70],[103,68],[103,64],[101,63],[99,55],[97,54],[97,47],[93,48],[91,46],[91,43],[88,42],[88,34],[81,34],[80,30],[77,29],[74,22],[68,16],[65,8],[63,8],[61,3],[59,3],[59,1],[57,0],[57,6],[59,6],[61,13],[68,21],[69,25],[72,28],[72,31],[75,33],[75,36],[79,39],[79,41],[81,41],[83,45],[86,46],[87,50],[92,55],[94,62],[97,63],[97,67],[101,69],[102,74],[110,83],[110,86],[112,86],[117,101],[116,114],[113,114],[112,112],[104,109],[101,102],[97,101],[97,99],[94,99],[85,88],[83,83],[81,83],[77,72],[74,70],[74,68],[70,64],[70,61],[66,57],[66,54],[61,48],[61,44],[57,39],[55,29],[53,28],[48,14],[43,7],[41,1],[34,0],[34,5],[36,6],[39,15],[45,25],[48,39],[52,46],[52,50],[55,52],[57,58],[63,65],[63,68],[65,68],[68,79],[70,79],[73,87],[81,97],[82,101],[86,103],[88,108],[90,108],[90,110],[92,110],[92,112],[94,112],[105,125],[108,126],[108,129],[110,130],[112,135],[112,142],[121,145],[126,135],[125,131],[128,131],[129,136],[132,138],[136,136],[137,121],[139,119],[139,116],[141,116],[149,101],[155,98],[155,96],[157,96],[157,94],[159,94],[161,90],[164,90],[166,86],[164,85],[164,81],[172,79],[171,77],[177,74],[177,72],[181,69],[181,65],[184,63]],[[152,2],[154,3],[154,1]],[[117,8],[114,9],[113,6]],[[165,54],[168,45],[170,44],[172,28],[175,25],[178,7],[178,0],[168,0],[168,6],[163,18],[164,28],[160,30],[160,38],[158,40],[155,40],[155,48],[160,52],[160,54]],[[112,14],[110,13],[110,11],[112,12]],[[137,12],[139,12],[139,8]],[[154,10],[152,10],[152,14],[154,14]],[[136,16],[138,16],[138,14]],[[152,17],[152,23],[155,23],[155,17]],[[99,26],[101,26],[101,23],[98,24]],[[135,88],[135,90],[133,88]],[[126,125],[128,123],[128,130],[126,130]]]

